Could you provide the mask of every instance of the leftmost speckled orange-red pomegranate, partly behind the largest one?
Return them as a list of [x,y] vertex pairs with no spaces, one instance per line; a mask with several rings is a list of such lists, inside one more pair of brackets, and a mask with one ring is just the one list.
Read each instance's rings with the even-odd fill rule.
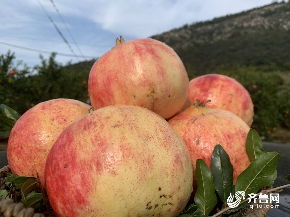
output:
[[41,102],[30,108],[11,130],[7,147],[9,167],[20,176],[39,174],[44,186],[46,156],[59,134],[91,106],[71,99]]

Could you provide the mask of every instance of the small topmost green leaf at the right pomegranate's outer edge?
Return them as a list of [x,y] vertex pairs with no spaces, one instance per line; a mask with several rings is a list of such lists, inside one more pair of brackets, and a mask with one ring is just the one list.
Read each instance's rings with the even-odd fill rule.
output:
[[256,130],[250,129],[246,139],[246,152],[252,162],[258,156],[266,153],[263,149],[262,140]]

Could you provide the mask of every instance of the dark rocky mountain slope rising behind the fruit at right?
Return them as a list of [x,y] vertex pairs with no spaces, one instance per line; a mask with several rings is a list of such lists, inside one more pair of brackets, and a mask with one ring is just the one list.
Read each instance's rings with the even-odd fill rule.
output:
[[290,1],[184,25],[151,38],[172,47],[189,77],[219,66],[290,69]]

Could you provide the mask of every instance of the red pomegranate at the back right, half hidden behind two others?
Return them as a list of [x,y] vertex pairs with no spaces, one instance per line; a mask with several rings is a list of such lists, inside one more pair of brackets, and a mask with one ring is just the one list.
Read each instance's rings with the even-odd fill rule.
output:
[[225,109],[238,115],[251,126],[254,105],[249,92],[234,78],[219,74],[207,74],[196,77],[189,82],[188,101],[184,108],[199,99],[207,103],[208,108]]

